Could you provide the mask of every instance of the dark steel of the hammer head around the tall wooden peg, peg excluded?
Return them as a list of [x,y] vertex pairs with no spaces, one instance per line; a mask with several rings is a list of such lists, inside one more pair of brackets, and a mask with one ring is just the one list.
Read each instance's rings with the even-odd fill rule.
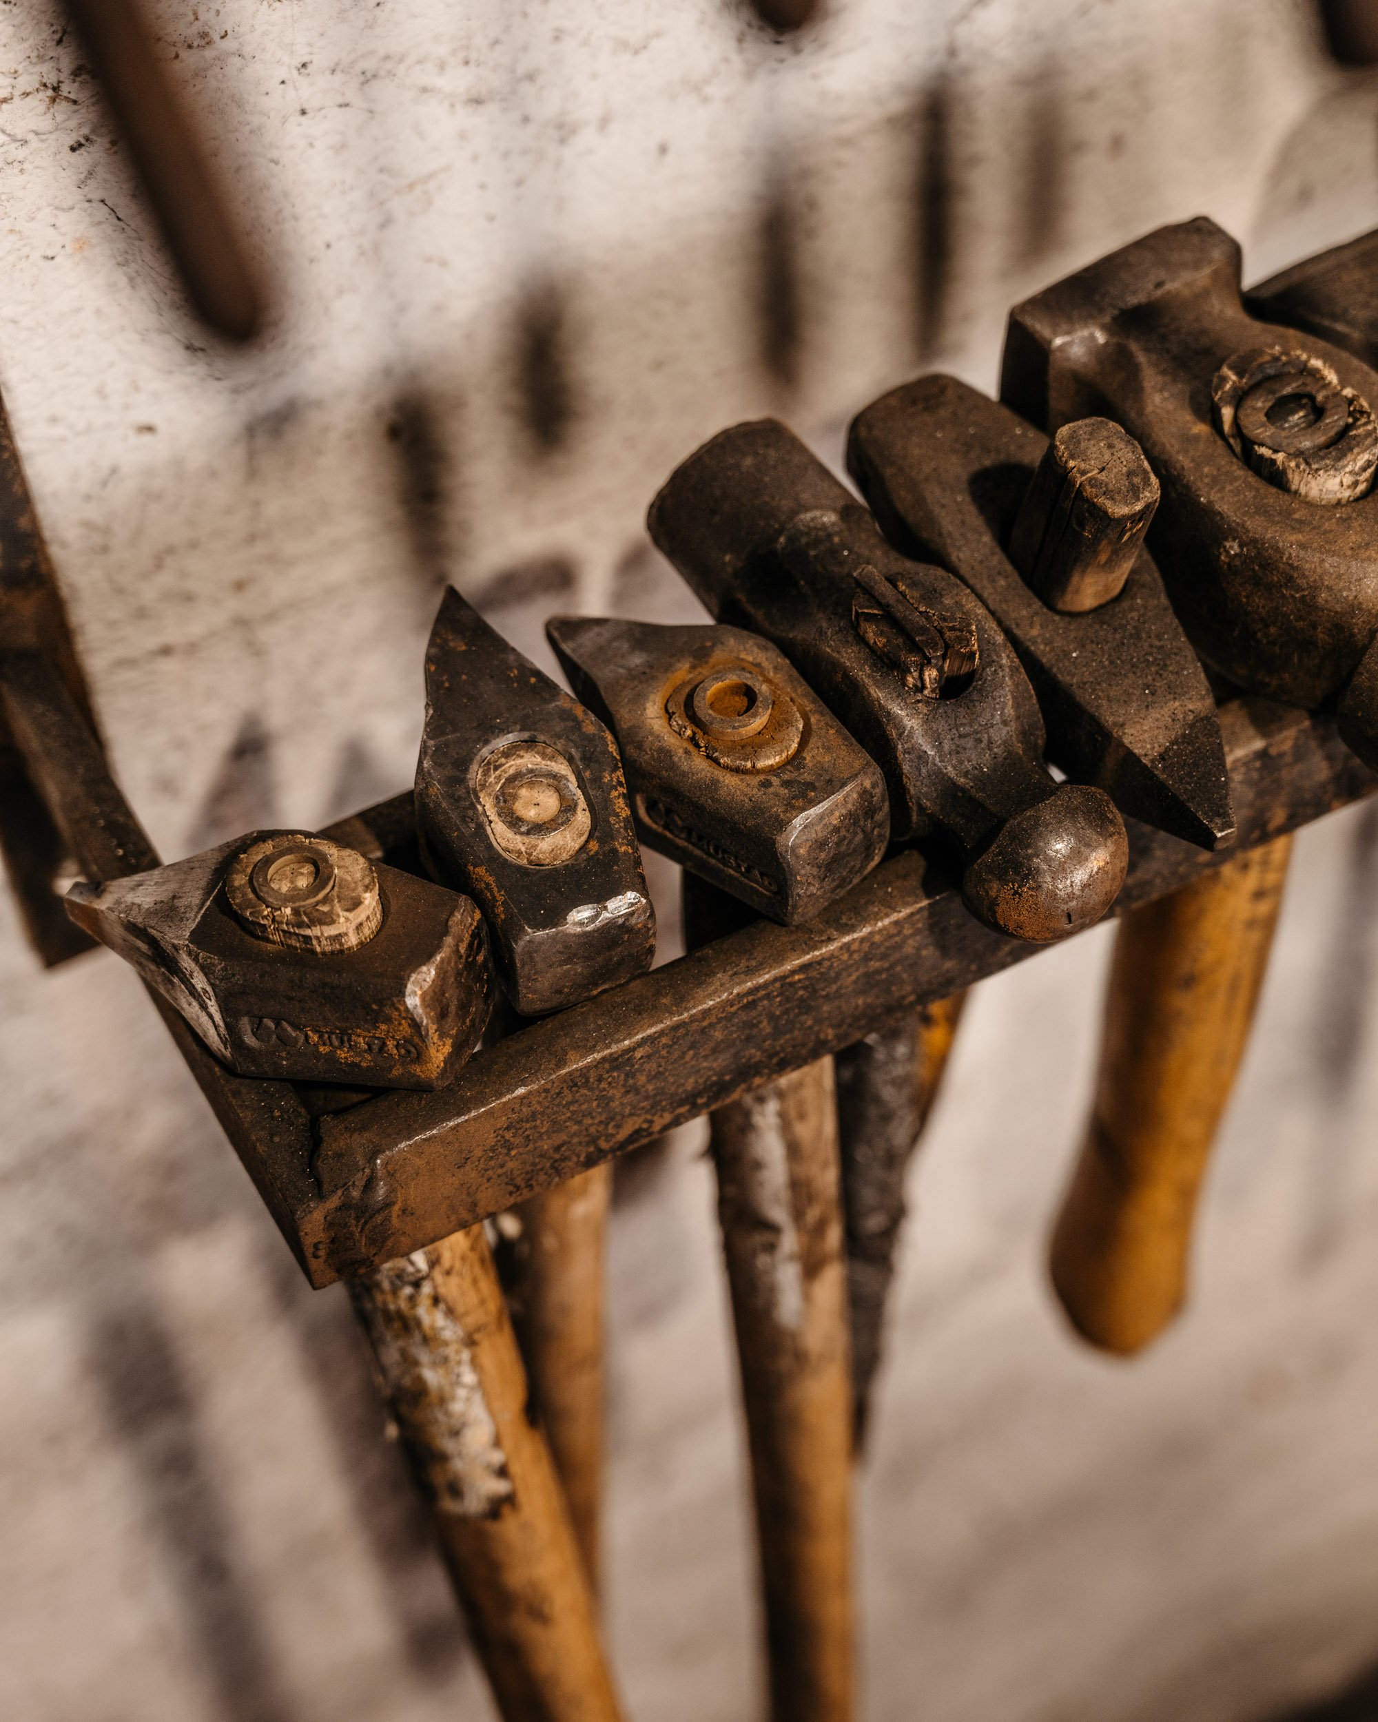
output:
[[858,415],[847,465],[891,542],[951,568],[1004,629],[1049,758],[1121,813],[1218,849],[1235,833],[1220,720],[1147,549],[1132,546],[1118,596],[1077,613],[1049,608],[1011,561],[1047,451],[1008,406],[922,377]]

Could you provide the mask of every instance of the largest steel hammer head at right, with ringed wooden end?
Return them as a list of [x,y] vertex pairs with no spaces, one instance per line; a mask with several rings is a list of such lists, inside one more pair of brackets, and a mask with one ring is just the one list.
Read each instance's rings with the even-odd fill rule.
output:
[[1197,653],[1314,711],[1378,765],[1378,374],[1251,317],[1240,251],[1199,217],[1127,245],[1009,315],[1001,394],[1056,429],[1116,418],[1163,499],[1151,542]]

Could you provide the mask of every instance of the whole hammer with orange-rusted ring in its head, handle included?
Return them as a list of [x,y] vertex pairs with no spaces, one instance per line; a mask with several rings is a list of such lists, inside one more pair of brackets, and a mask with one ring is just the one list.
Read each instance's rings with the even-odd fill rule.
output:
[[[780,651],[732,627],[556,618],[622,747],[691,949],[823,914],[882,858],[885,782]],[[710,1119],[777,1722],[853,1713],[851,1378],[832,1059]]]

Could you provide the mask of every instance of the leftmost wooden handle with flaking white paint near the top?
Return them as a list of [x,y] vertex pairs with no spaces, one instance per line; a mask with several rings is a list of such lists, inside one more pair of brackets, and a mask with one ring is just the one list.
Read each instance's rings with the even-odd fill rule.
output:
[[505,1722],[618,1722],[482,1226],[350,1290]]

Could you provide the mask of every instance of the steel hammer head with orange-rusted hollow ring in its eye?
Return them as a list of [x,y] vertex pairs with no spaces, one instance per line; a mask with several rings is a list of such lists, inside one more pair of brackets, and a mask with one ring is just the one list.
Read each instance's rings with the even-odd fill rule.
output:
[[880,770],[768,641],[579,616],[546,634],[617,735],[648,847],[785,925],[884,856]]

